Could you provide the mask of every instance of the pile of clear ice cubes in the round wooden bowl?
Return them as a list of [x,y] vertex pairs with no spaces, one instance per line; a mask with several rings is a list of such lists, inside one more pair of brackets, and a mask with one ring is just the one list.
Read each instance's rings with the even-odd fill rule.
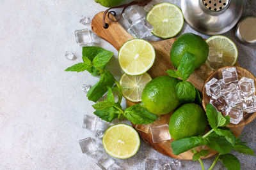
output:
[[221,80],[212,78],[205,84],[206,93],[218,111],[229,115],[232,124],[238,124],[243,112],[256,112],[255,83],[246,77],[238,80],[236,67],[221,69],[221,73]]

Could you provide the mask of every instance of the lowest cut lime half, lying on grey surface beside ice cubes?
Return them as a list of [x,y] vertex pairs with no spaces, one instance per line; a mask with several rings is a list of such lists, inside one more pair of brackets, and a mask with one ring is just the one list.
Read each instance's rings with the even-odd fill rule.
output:
[[140,137],[130,125],[117,124],[109,127],[102,139],[106,152],[118,159],[135,155],[140,148]]

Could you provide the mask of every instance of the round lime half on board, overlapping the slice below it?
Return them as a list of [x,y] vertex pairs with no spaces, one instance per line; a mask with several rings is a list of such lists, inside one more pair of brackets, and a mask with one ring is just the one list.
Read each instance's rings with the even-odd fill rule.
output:
[[118,52],[118,62],[124,73],[140,75],[154,64],[154,47],[143,39],[131,39],[124,43]]

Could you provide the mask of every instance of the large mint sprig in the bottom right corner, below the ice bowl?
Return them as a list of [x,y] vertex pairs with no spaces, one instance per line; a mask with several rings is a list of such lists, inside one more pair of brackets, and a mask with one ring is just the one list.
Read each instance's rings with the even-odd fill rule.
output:
[[209,169],[212,169],[218,160],[221,160],[228,170],[240,169],[239,160],[230,154],[231,150],[254,156],[253,150],[246,146],[248,143],[241,141],[241,136],[236,138],[233,132],[225,127],[229,124],[229,116],[223,117],[211,104],[207,104],[206,106],[206,115],[212,129],[204,134],[204,136],[192,136],[173,141],[171,144],[173,153],[179,155],[180,153],[193,149],[191,150],[194,153],[193,160],[198,160],[202,169],[204,169],[204,164],[202,164],[200,157],[207,155],[207,153],[206,151],[197,152],[195,147],[207,145],[212,150],[219,152]]

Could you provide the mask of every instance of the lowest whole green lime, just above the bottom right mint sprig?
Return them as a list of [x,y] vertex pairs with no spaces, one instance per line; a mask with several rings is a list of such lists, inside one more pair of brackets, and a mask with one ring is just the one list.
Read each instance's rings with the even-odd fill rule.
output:
[[202,135],[207,126],[204,110],[195,103],[180,106],[169,122],[169,132],[172,139],[179,140],[191,136]]

